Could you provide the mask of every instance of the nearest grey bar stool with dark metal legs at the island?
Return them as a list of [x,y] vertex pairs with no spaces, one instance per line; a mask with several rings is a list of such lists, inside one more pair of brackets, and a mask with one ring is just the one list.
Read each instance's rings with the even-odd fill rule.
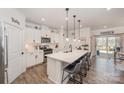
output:
[[[67,79],[67,78],[69,78],[69,80],[73,81],[74,83],[79,83],[79,84],[82,83],[82,82],[77,81],[75,79],[75,75],[79,74],[79,72],[80,72],[81,64],[82,64],[82,60],[80,60],[80,62],[76,61],[76,62],[74,62],[72,64],[69,64],[66,67],[64,67],[61,83],[63,83],[64,80]],[[64,73],[65,72],[67,72],[68,75],[64,78]],[[80,80],[81,80],[81,78],[80,78]]]

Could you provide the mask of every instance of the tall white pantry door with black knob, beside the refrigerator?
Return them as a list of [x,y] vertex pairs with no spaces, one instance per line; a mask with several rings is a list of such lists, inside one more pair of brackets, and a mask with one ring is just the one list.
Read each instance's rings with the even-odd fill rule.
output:
[[11,25],[5,25],[8,47],[8,83],[15,80],[25,69],[23,63],[23,31]]

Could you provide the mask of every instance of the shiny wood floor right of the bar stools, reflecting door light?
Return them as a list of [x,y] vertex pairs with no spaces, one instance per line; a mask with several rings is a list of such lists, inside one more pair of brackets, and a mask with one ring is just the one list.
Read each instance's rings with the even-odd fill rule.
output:
[[89,84],[121,84],[124,83],[124,72],[116,69],[113,59],[98,57],[93,59],[84,83]]

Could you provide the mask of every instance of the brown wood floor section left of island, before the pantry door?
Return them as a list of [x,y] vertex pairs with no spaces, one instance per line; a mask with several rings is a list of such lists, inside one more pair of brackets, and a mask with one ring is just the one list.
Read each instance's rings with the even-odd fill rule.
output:
[[53,82],[47,78],[46,68],[46,63],[28,68],[13,84],[52,84]]

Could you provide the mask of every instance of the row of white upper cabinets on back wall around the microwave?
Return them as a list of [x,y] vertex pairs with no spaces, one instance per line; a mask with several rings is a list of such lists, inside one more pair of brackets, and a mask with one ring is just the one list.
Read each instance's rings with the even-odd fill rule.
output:
[[57,29],[51,29],[46,25],[34,25],[33,23],[27,23],[26,26],[26,43],[41,43],[41,38],[50,38],[50,43],[58,43],[60,41],[60,33]]

